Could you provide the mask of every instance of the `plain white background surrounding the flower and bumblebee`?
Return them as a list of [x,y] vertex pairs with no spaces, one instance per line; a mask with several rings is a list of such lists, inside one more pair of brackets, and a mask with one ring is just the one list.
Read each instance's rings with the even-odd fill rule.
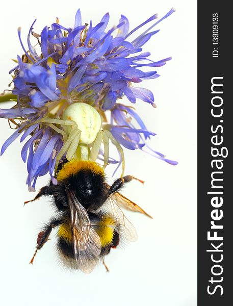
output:
[[[153,220],[128,213],[137,228],[138,241],[116,249],[106,258],[110,273],[99,265],[91,274],[69,272],[57,263],[55,237],[51,235],[34,265],[29,265],[41,224],[53,211],[46,199],[28,204],[35,196],[25,185],[26,167],[20,158],[22,144],[14,142],[0,159],[0,303],[23,305],[196,305],[196,1],[133,0],[118,1],[11,1],[1,5],[0,90],[11,81],[10,60],[22,54],[17,28],[22,27],[25,43],[35,18],[35,32],[41,32],[60,18],[73,26],[81,8],[83,21],[96,24],[107,11],[110,24],[120,14],[127,16],[131,29],[154,13],[162,17],[171,7],[176,12],[159,24],[156,34],[144,46],[151,58],[172,56],[158,68],[161,77],[144,82],[155,97],[157,109],[138,101],[137,110],[148,130],[158,134],[150,145],[177,166],[154,159],[141,151],[127,151],[126,173],[146,181],[132,182],[124,194],[142,206]],[[3,106],[2,107],[7,107]],[[7,120],[0,119],[0,145],[13,132]],[[111,177],[111,173],[107,172]],[[48,181],[38,181],[37,190]],[[112,182],[112,179],[110,179]]]

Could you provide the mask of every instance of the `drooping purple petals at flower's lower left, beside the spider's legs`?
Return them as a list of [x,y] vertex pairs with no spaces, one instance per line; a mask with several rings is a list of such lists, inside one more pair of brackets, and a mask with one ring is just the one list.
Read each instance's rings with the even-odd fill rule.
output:
[[[31,136],[23,145],[21,150],[21,158],[24,163],[27,162],[28,179],[27,184],[30,191],[35,191],[35,184],[38,176],[43,176],[49,172],[51,180],[57,184],[53,176],[56,156],[63,146],[62,137],[54,133],[47,126],[41,126],[38,122],[40,116],[34,109],[23,109],[23,118],[25,123],[21,123],[17,130],[5,141],[1,149],[1,156],[7,147],[19,136],[20,142],[24,141],[28,136]],[[5,118],[20,117],[20,112],[17,109],[0,110],[0,115],[4,114]],[[38,119],[38,120],[37,120]],[[32,122],[30,125],[28,122]]]

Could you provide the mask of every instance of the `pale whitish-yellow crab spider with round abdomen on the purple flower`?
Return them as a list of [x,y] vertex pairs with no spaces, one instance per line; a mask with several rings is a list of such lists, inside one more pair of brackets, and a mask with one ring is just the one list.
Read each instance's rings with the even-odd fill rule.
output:
[[[72,158],[96,161],[100,146],[103,143],[103,169],[109,162],[109,140],[116,146],[122,160],[122,173],[124,172],[124,154],[120,144],[108,130],[102,130],[99,113],[86,103],[73,103],[67,107],[63,118],[42,118],[32,124],[43,123],[62,135],[64,145],[56,156],[55,172],[61,158],[65,155],[69,161]],[[61,129],[55,124],[60,125]],[[25,128],[26,126],[24,126]]]

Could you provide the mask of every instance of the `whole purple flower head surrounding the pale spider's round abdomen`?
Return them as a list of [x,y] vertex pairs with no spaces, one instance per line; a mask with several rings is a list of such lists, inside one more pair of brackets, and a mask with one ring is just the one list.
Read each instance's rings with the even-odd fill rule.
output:
[[[17,137],[21,137],[20,141],[29,137],[21,157],[27,161],[30,190],[34,190],[37,177],[47,172],[56,184],[53,173],[59,162],[77,157],[79,150],[80,156],[85,151],[85,156],[92,160],[98,157],[101,160],[102,155],[106,166],[117,162],[109,157],[109,140],[117,146],[122,163],[121,145],[132,150],[147,146],[146,139],[155,134],[147,131],[133,108],[117,103],[117,99],[126,97],[133,104],[136,99],[141,99],[154,106],[152,92],[135,84],[158,78],[157,68],[171,58],[153,61],[149,52],[142,52],[142,46],[159,32],[152,29],[173,12],[171,9],[134,40],[131,35],[157,19],[157,14],[130,32],[128,19],[123,15],[115,27],[106,30],[109,13],[96,25],[92,21],[82,24],[78,10],[73,28],[63,27],[57,19],[40,34],[33,32],[35,20],[29,30],[27,48],[22,44],[21,29],[18,29],[24,55],[17,57],[17,66],[10,71],[13,73],[12,93],[17,97],[17,103],[11,109],[0,110],[0,117],[11,120],[16,131],[4,143],[1,155]],[[37,47],[31,42],[32,37],[37,40]],[[144,68],[150,71],[144,71]],[[93,106],[103,122],[103,130],[85,149],[80,149],[77,122],[63,118],[64,111],[77,102]],[[111,110],[109,123],[105,116],[107,110]],[[153,154],[171,162],[156,151]]]

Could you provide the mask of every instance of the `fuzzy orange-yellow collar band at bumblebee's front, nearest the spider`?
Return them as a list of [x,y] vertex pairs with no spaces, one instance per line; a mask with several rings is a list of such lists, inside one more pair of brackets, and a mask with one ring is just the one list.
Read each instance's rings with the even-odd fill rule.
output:
[[58,181],[67,179],[69,176],[76,174],[80,170],[91,170],[94,174],[104,175],[103,169],[91,161],[71,160],[65,163],[57,174]]

